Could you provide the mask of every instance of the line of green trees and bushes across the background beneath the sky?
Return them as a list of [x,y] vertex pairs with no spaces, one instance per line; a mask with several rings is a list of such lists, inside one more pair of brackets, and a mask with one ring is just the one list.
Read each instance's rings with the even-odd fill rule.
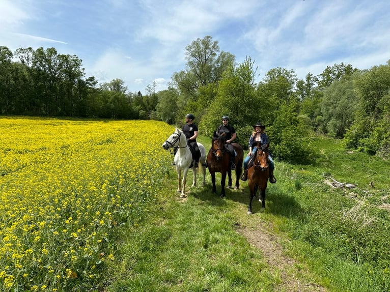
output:
[[75,55],[54,48],[0,47],[0,113],[153,119],[181,126],[196,116],[200,132],[211,136],[229,115],[245,147],[252,125],[261,121],[275,157],[310,162],[313,131],[343,139],[345,147],[390,156],[390,61],[368,70],[350,64],[327,66],[298,79],[293,70],[273,68],[256,82],[255,62],[220,50],[206,36],[185,48],[186,65],[174,72],[168,89],[128,92],[121,79],[98,84],[86,78]]

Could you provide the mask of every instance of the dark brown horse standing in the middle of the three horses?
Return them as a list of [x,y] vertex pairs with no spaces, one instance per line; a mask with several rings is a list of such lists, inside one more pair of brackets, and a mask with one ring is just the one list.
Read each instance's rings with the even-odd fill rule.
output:
[[[234,189],[238,189],[240,186],[240,177],[242,173],[242,161],[244,158],[244,151],[240,144],[232,143],[232,146],[236,152],[234,163],[236,164],[236,185]],[[232,186],[232,170],[230,165],[230,154],[225,148],[225,138],[214,132],[214,136],[211,141],[211,149],[207,155],[207,165],[211,174],[211,182],[213,184],[212,192],[216,193],[215,186],[215,172],[221,173],[221,197],[225,197],[225,184],[226,174],[229,176],[228,186]]]

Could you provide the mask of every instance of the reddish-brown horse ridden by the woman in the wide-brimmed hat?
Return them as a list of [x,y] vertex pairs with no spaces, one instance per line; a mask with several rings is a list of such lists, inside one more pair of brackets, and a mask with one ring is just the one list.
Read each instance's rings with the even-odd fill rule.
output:
[[252,214],[252,200],[253,197],[256,196],[256,192],[259,188],[259,201],[262,202],[262,208],[265,208],[265,189],[267,188],[269,178],[268,153],[268,147],[261,148],[258,144],[257,151],[253,158],[253,165],[248,169],[248,214]]

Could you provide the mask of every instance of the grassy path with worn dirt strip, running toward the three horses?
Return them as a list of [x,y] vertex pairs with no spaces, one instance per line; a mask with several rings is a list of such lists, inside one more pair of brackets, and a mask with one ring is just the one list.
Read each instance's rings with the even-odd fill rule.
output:
[[169,199],[160,202],[153,219],[128,233],[121,280],[110,290],[324,290],[284,253],[283,240],[258,201],[256,214],[246,215],[246,183],[228,190],[226,199],[211,194],[210,182],[191,189],[185,199],[167,191]]

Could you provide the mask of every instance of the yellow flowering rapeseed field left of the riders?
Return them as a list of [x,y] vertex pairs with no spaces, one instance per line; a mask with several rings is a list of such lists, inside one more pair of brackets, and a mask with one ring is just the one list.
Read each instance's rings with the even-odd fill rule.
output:
[[172,132],[156,121],[0,118],[0,290],[98,283],[118,230],[160,196]]

